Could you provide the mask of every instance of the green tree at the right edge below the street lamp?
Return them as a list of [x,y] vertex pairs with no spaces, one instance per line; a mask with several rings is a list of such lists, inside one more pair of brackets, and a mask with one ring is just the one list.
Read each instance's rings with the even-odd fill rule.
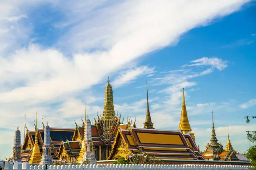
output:
[[[255,143],[256,142],[256,131],[254,131],[252,134],[248,134],[247,138],[250,142]],[[256,145],[251,146],[246,153],[246,158],[251,160],[251,165],[253,168],[252,170],[256,170]]]

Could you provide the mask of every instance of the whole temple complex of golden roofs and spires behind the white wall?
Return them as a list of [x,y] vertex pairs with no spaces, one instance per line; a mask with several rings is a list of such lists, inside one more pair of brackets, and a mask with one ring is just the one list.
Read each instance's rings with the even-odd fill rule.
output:
[[32,164],[43,164],[47,161],[51,164],[51,159],[96,163],[96,160],[117,160],[124,157],[132,162],[133,155],[142,152],[161,159],[164,163],[173,160],[235,160],[233,155],[236,152],[230,143],[229,135],[225,150],[218,143],[213,115],[211,143],[206,146],[205,153],[200,153],[189,123],[184,89],[178,130],[159,130],[153,126],[148,102],[148,84],[146,105],[143,127],[137,128],[136,120],[132,123],[131,118],[127,118],[124,123],[124,119],[120,120],[121,114],[115,113],[113,89],[108,78],[102,115],[97,113],[93,125],[88,117],[86,119],[86,105],[84,119],[81,119],[80,125],[75,121],[74,128],[50,128],[48,124],[44,126],[42,121],[43,129],[38,129],[36,118],[35,131],[26,128],[21,160]]

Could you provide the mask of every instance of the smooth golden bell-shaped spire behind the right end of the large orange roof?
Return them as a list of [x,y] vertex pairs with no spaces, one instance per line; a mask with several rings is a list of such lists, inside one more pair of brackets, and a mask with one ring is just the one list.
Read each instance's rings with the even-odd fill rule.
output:
[[178,130],[180,130],[180,129],[182,130],[183,134],[190,132],[190,135],[195,140],[194,133],[192,133],[191,127],[189,125],[189,120],[187,117],[187,108],[186,108],[186,104],[185,104],[184,88],[182,88],[182,112],[181,112]]

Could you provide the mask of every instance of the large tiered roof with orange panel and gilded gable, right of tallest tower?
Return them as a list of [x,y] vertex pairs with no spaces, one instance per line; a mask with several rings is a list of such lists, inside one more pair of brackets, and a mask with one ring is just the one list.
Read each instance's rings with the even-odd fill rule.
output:
[[[192,136],[190,134],[184,135],[181,130],[154,130],[133,128],[132,126],[127,130],[119,128],[114,148],[117,147],[120,137],[134,154],[144,151],[148,155],[163,160],[204,160]],[[115,159],[113,158],[115,155],[114,148],[109,159]]]

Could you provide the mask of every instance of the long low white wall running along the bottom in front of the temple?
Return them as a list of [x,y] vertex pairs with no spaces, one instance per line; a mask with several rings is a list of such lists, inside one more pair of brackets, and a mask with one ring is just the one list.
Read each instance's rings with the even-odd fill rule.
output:
[[[3,167],[3,162],[0,162]],[[50,165],[47,170],[249,170],[250,166],[243,165]],[[5,163],[3,170],[44,170],[44,165],[29,163]]]

